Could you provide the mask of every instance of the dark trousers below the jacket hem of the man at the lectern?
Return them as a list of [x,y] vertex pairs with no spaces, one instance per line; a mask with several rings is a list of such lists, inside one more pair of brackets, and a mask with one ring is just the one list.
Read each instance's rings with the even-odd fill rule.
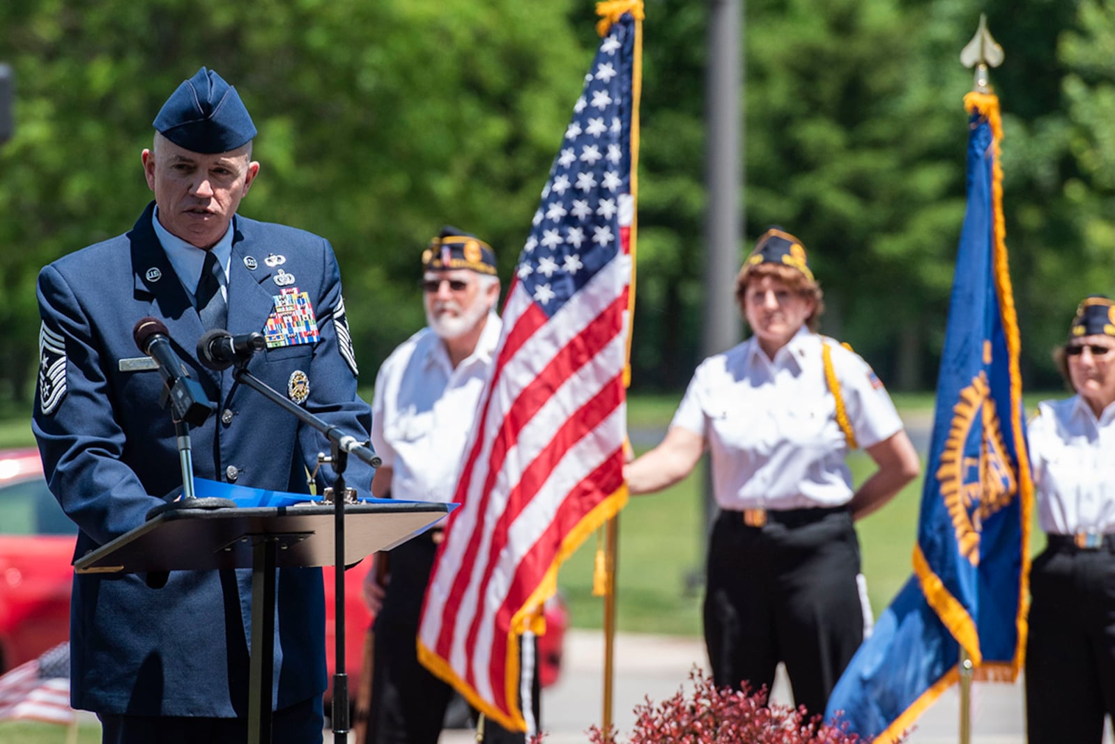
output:
[[[246,718],[134,716],[97,714],[103,744],[244,744]],[[273,744],[321,744],[326,722],[322,701],[316,698],[275,711],[271,717]]]

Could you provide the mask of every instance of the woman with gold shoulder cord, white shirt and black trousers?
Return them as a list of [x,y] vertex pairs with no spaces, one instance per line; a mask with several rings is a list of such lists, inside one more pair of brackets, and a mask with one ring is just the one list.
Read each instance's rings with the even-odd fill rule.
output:
[[[666,438],[628,464],[628,487],[671,486],[708,447],[719,506],[705,597],[712,678],[769,689],[784,662],[795,703],[823,715],[870,611],[852,522],[920,462],[871,368],[815,333],[822,292],[796,237],[759,238],[736,298],[754,335],[697,368]],[[856,441],[878,470],[853,490],[844,457]]]

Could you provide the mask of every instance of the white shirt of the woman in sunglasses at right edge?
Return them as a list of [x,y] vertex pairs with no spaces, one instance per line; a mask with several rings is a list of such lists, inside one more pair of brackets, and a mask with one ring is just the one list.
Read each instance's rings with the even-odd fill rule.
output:
[[1115,532],[1115,403],[1097,420],[1079,395],[1041,401],[1026,439],[1041,529]]

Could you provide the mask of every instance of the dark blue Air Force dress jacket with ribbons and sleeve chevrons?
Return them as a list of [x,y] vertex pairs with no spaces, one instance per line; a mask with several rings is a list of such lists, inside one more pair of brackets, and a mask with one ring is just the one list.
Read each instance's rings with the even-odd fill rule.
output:
[[[201,320],[163,251],[148,205],[127,234],[88,246],[39,274],[40,390],[33,429],[51,491],[80,528],[76,557],[144,523],[182,484],[169,409],[157,371],[132,332],[161,319],[190,375],[217,404],[191,431],[194,473],[261,489],[307,492],[306,468],[324,437],[232,371],[197,363]],[[236,216],[229,268],[229,331],[262,331],[281,290],[306,292],[320,340],[256,353],[249,371],[358,439],[370,409],[357,395],[340,271],[329,243],[291,227]],[[270,260],[269,260],[270,258]],[[181,344],[181,345],[180,345]],[[64,373],[59,373],[59,369]],[[304,398],[303,398],[304,397]],[[346,481],[367,495],[371,469],[351,458]],[[323,476],[323,478],[321,477]],[[332,471],[322,467],[319,488]],[[322,480],[326,482],[322,483]],[[277,583],[275,708],[326,688],[321,570],[283,568]],[[70,610],[71,697],[109,714],[232,717],[246,714],[251,570],[171,571],[162,588],[143,575],[75,576]]]

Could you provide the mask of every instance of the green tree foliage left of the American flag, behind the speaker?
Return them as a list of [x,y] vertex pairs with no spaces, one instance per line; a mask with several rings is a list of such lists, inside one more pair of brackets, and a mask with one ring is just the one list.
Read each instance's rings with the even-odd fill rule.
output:
[[[18,81],[0,153],[0,399],[33,385],[40,266],[129,228],[139,153],[201,66],[260,135],[246,216],[329,237],[369,382],[423,325],[419,256],[442,224],[487,238],[510,276],[591,59],[591,8],[551,0],[14,0],[0,59]],[[281,246],[277,246],[281,248]],[[89,277],[96,281],[96,277]]]

